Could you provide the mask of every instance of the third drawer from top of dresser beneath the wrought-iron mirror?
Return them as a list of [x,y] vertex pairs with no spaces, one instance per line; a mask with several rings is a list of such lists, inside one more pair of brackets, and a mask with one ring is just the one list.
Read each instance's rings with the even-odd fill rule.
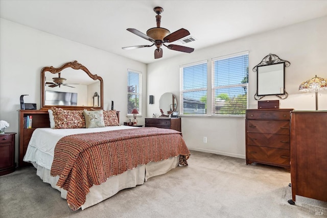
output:
[[247,133],[246,144],[278,149],[290,149],[290,136],[266,133]]

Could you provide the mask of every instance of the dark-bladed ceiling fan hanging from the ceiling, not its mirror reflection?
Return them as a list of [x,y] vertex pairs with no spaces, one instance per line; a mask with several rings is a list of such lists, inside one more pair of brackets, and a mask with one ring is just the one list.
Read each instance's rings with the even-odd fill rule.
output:
[[192,47],[185,47],[185,46],[181,46],[181,45],[176,45],[176,44],[170,44],[170,45],[165,45],[164,43],[167,42],[173,42],[176,41],[178,39],[181,39],[185,36],[190,35],[190,32],[188,30],[185,29],[180,29],[177,30],[173,33],[170,33],[169,30],[165,29],[165,28],[161,28],[160,27],[160,22],[161,22],[161,16],[160,14],[164,11],[164,9],[162,9],[161,7],[155,7],[153,9],[153,11],[157,14],[155,16],[156,18],[156,22],[157,22],[157,27],[155,28],[151,28],[147,31],[147,34],[144,34],[136,29],[127,29],[129,32],[134,33],[135,35],[142,37],[146,40],[151,41],[153,44],[152,45],[136,45],[136,46],[129,46],[129,47],[123,47],[122,49],[138,49],[141,47],[151,47],[153,45],[155,45],[157,48],[154,50],[154,58],[161,58],[162,57],[162,49],[161,46],[164,45],[166,46],[168,49],[171,50],[175,50],[175,51],[179,51],[179,52],[186,52],[186,53],[191,53],[194,51],[194,49],[192,49]]

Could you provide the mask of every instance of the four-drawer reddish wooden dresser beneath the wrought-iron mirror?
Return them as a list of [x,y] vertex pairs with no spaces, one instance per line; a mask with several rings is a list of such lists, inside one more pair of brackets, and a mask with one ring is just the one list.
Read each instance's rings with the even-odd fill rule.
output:
[[290,169],[290,111],[293,109],[246,110],[246,164]]

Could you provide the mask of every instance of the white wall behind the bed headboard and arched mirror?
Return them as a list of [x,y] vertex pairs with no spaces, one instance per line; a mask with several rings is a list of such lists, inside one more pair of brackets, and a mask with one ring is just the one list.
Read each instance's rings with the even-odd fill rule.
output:
[[[0,19],[0,120],[7,132],[18,133],[19,97],[40,108],[40,79],[44,66],[59,67],[77,60],[104,82],[104,109],[121,111],[121,124],[127,120],[127,69],[143,72],[143,98],[146,99],[147,65],[95,49],[55,35],[44,33],[6,19]],[[123,85],[122,85],[123,84]],[[100,94],[100,93],[99,93]],[[143,104],[146,111],[146,101]],[[16,135],[16,160],[18,134]]]

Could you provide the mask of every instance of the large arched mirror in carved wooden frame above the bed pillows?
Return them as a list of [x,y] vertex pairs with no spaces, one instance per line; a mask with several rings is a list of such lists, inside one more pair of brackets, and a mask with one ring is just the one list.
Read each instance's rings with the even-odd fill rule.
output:
[[[97,96],[97,101],[95,101]],[[99,99],[99,100],[98,100]],[[103,80],[77,61],[41,70],[41,110],[103,109]]]

